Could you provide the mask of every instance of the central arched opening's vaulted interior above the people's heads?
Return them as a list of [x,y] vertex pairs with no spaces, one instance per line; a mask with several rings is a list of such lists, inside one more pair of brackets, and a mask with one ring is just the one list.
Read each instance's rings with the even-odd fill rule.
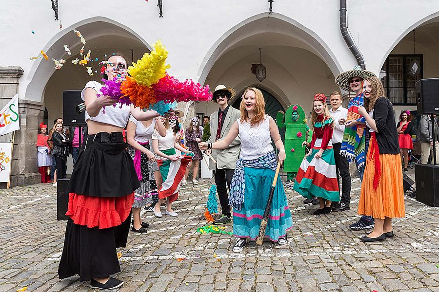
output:
[[[260,61],[266,78],[258,82],[251,65]],[[301,104],[311,111],[315,93],[337,90],[335,75],[340,66],[328,46],[297,21],[280,14],[254,16],[227,31],[211,48],[200,67],[200,83],[212,89],[223,84],[235,90],[258,84],[275,92],[282,109]],[[214,103],[201,102],[197,112],[217,110]]]

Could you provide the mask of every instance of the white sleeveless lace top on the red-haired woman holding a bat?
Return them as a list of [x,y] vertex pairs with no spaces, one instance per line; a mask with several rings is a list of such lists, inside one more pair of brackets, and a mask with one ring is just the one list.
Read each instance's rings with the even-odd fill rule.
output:
[[251,160],[261,157],[271,151],[270,116],[265,115],[259,125],[251,126],[247,122],[236,120],[239,126],[239,137],[241,139],[241,153],[239,158]]

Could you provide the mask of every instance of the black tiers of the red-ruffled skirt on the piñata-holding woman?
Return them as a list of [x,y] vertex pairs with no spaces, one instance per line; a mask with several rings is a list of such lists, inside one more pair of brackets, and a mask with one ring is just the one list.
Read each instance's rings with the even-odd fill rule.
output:
[[[87,198],[91,197],[110,201],[114,201],[112,198],[116,198],[116,201],[126,200],[121,197],[132,195],[139,186],[133,160],[125,150],[122,133],[99,133],[85,137],[69,182],[70,199],[79,195],[85,196],[83,198],[86,201],[90,201]],[[69,209],[74,202],[69,201]],[[131,204],[132,202],[129,207]],[[97,208],[100,208],[99,205]],[[73,212],[80,209],[74,205],[71,208]],[[119,273],[116,248],[126,246],[131,212],[126,219],[121,218],[121,221],[120,225],[110,228],[89,228],[75,224],[69,218],[58,268],[59,277],[79,274],[80,281],[88,281]]]

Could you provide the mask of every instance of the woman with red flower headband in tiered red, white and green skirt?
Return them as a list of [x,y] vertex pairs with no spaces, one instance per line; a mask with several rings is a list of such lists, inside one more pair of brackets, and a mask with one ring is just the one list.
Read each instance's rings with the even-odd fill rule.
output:
[[294,190],[308,199],[312,196],[319,198],[320,207],[314,211],[314,215],[328,214],[331,212],[331,202],[340,201],[340,196],[331,142],[335,125],[324,94],[314,95],[311,125],[311,149],[300,164]]

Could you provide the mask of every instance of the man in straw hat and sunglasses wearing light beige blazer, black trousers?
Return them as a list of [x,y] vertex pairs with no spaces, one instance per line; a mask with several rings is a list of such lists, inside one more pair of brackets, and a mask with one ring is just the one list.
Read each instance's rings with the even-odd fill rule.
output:
[[[219,104],[220,108],[210,115],[210,133],[211,136],[206,141],[213,143],[227,136],[233,123],[240,118],[239,110],[229,105],[229,100],[236,94],[233,88],[218,85],[213,93],[212,101]],[[235,171],[236,162],[239,158],[240,140],[239,136],[230,144],[229,147],[222,150],[206,150],[207,154],[211,153],[216,159],[217,165],[212,160],[209,161],[209,169],[215,170],[215,183],[217,185],[218,198],[220,199],[222,214],[214,224],[226,224],[232,219],[231,208],[229,205],[229,195],[227,187],[230,189],[233,172]],[[227,184],[227,186],[226,186]]]

